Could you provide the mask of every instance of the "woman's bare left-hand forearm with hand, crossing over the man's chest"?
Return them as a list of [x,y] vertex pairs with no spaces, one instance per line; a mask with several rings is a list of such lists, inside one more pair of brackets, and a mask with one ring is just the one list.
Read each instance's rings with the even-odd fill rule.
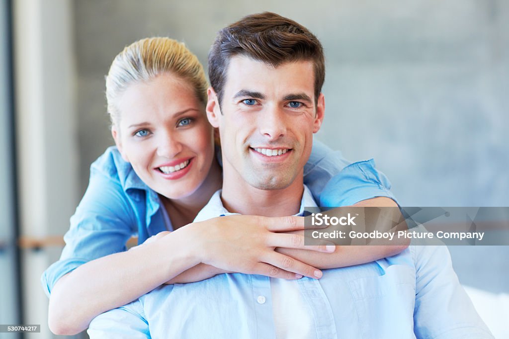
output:
[[275,233],[303,226],[298,218],[224,216],[163,232],[129,251],[90,261],[53,287],[50,329],[55,334],[78,333],[98,314],[127,304],[193,267],[183,275],[185,282],[225,271],[286,279],[321,276],[315,267],[274,251],[279,246],[331,250],[325,245],[305,247],[302,235]]

